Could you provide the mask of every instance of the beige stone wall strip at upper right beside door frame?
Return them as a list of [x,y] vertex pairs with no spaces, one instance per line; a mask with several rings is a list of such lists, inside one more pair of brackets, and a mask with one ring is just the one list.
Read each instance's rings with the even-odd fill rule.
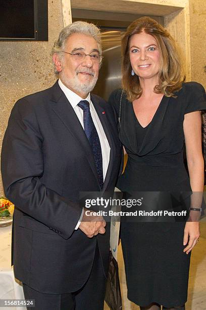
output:
[[206,1],[189,0],[191,80],[206,89]]

